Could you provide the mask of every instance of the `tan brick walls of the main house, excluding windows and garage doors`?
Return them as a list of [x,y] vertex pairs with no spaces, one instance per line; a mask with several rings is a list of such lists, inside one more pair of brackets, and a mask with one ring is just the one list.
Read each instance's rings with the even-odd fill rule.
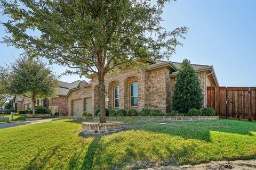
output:
[[[172,95],[177,77],[170,77],[170,70],[161,67],[154,70],[146,70],[146,67],[139,69],[119,69],[119,73],[107,74],[105,77],[106,108],[108,109],[130,109],[138,111],[141,108],[160,109],[163,113],[171,112]],[[201,80],[203,95],[205,92],[205,72],[197,73]],[[71,115],[72,100],[92,97],[92,114],[99,108],[99,85],[98,77],[92,77],[91,87],[78,88],[70,92],[68,96],[68,113]],[[138,82],[138,106],[131,107],[131,84]],[[119,86],[119,108],[114,108],[114,88]],[[82,100],[82,101],[83,101]],[[84,102],[82,103],[84,105]],[[84,108],[84,106],[83,106]]]

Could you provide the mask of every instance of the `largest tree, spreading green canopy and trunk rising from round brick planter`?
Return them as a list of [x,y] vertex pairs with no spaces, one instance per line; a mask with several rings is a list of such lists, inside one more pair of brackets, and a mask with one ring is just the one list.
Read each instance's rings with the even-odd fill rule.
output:
[[167,0],[0,2],[10,18],[3,23],[11,35],[4,38],[7,45],[76,69],[68,73],[98,76],[101,123],[106,122],[105,75],[141,60],[170,58],[187,33],[186,27],[161,26]]

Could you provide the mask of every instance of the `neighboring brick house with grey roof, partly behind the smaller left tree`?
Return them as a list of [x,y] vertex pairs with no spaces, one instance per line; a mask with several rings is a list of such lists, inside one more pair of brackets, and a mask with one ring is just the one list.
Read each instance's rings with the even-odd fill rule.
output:
[[[69,89],[77,87],[80,80],[74,81],[72,83],[59,81],[59,88],[58,88],[58,97],[54,98],[45,98],[42,100],[36,101],[36,106],[44,106],[50,109],[51,113],[59,112],[63,114],[68,113],[68,100],[66,96],[69,92]],[[18,105],[18,103],[17,103]],[[32,101],[28,97],[22,97],[21,100],[21,107],[20,109],[31,109]],[[18,110],[20,110],[18,109]]]

